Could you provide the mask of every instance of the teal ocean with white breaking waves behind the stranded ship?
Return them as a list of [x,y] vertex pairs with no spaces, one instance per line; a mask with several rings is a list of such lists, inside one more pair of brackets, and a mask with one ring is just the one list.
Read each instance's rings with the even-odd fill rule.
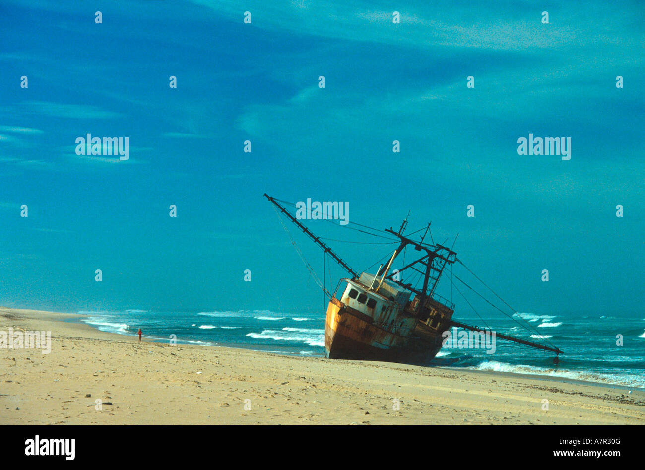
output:
[[[204,347],[226,346],[277,354],[324,356],[324,313],[294,314],[265,310],[157,312],[80,311],[81,321],[108,332],[136,335],[146,340]],[[519,320],[515,314],[515,320]],[[444,347],[428,365],[464,367],[484,371],[537,374],[586,380],[606,385],[645,389],[645,314],[541,315],[522,313],[531,331],[511,318],[486,318],[494,331],[525,340],[548,340],[562,351],[553,364],[553,353],[497,340],[495,353],[486,349]],[[455,320],[482,326],[479,318],[455,314]],[[622,345],[617,345],[617,335]]]

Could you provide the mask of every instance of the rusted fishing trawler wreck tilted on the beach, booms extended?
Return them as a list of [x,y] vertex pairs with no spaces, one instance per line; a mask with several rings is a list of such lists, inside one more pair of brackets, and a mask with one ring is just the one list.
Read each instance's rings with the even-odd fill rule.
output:
[[[325,351],[328,358],[426,363],[439,353],[446,332],[454,327],[493,332],[487,327],[454,320],[455,305],[437,294],[437,285],[446,267],[461,261],[452,247],[424,241],[430,224],[420,240],[413,240],[410,238],[412,235],[404,235],[407,220],[397,231],[392,228],[383,230],[397,240],[397,247],[386,263],[382,263],[373,274],[359,273],[283,206],[288,203],[267,194],[264,196],[275,206],[279,215],[286,216],[349,274],[339,281],[335,292],[328,291],[319,282],[329,298],[325,320]],[[286,227],[284,229],[288,233]],[[393,263],[406,248],[418,254],[400,269],[393,270]],[[402,273],[411,271],[421,275],[417,285],[400,280]],[[315,277],[315,273],[312,274]],[[530,331],[530,327],[522,326]],[[559,348],[544,338],[540,338],[544,343],[537,343],[493,333],[499,340],[555,353],[555,363],[559,354],[562,354]]]

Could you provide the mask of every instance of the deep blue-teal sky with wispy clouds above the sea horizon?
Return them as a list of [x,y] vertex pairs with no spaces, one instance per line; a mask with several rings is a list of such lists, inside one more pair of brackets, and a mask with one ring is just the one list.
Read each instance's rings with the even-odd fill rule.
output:
[[[241,5],[3,0],[0,305],[323,312],[266,192],[432,221],[517,311],[643,311],[642,2]],[[530,133],[571,159],[519,155]],[[77,155],[86,134],[128,160]],[[305,222],[359,271],[394,247]],[[288,225],[333,290],[346,273]]]

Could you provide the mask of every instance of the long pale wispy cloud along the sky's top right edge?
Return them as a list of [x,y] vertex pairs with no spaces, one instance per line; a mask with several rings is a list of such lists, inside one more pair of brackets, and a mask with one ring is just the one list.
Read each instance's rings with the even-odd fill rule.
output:
[[[269,4],[262,0],[248,0],[241,7],[235,0],[192,1],[212,8],[231,21],[241,22],[243,12],[248,10],[256,28],[332,39],[406,44],[417,48],[451,46],[526,50],[590,42],[607,44],[615,42],[617,36],[622,37],[624,45],[628,37],[622,28],[614,27],[624,26],[624,11],[616,8],[616,4],[590,8],[586,3],[544,5],[508,0],[439,0],[426,4],[353,0]],[[642,11],[639,3],[628,2],[626,5],[631,11]],[[550,13],[550,25],[541,23],[541,13],[545,9]],[[399,25],[392,23],[394,11],[401,15]],[[642,25],[637,23],[631,26],[642,30]],[[590,35],[590,30],[596,33]],[[598,31],[604,34],[597,34]]]

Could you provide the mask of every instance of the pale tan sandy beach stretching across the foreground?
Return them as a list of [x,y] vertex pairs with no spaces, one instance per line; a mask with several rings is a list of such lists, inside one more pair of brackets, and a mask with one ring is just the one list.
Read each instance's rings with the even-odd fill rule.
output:
[[52,332],[50,354],[0,349],[0,425],[645,424],[639,389],[139,344],[134,336],[61,322],[74,316],[0,307],[2,331]]

